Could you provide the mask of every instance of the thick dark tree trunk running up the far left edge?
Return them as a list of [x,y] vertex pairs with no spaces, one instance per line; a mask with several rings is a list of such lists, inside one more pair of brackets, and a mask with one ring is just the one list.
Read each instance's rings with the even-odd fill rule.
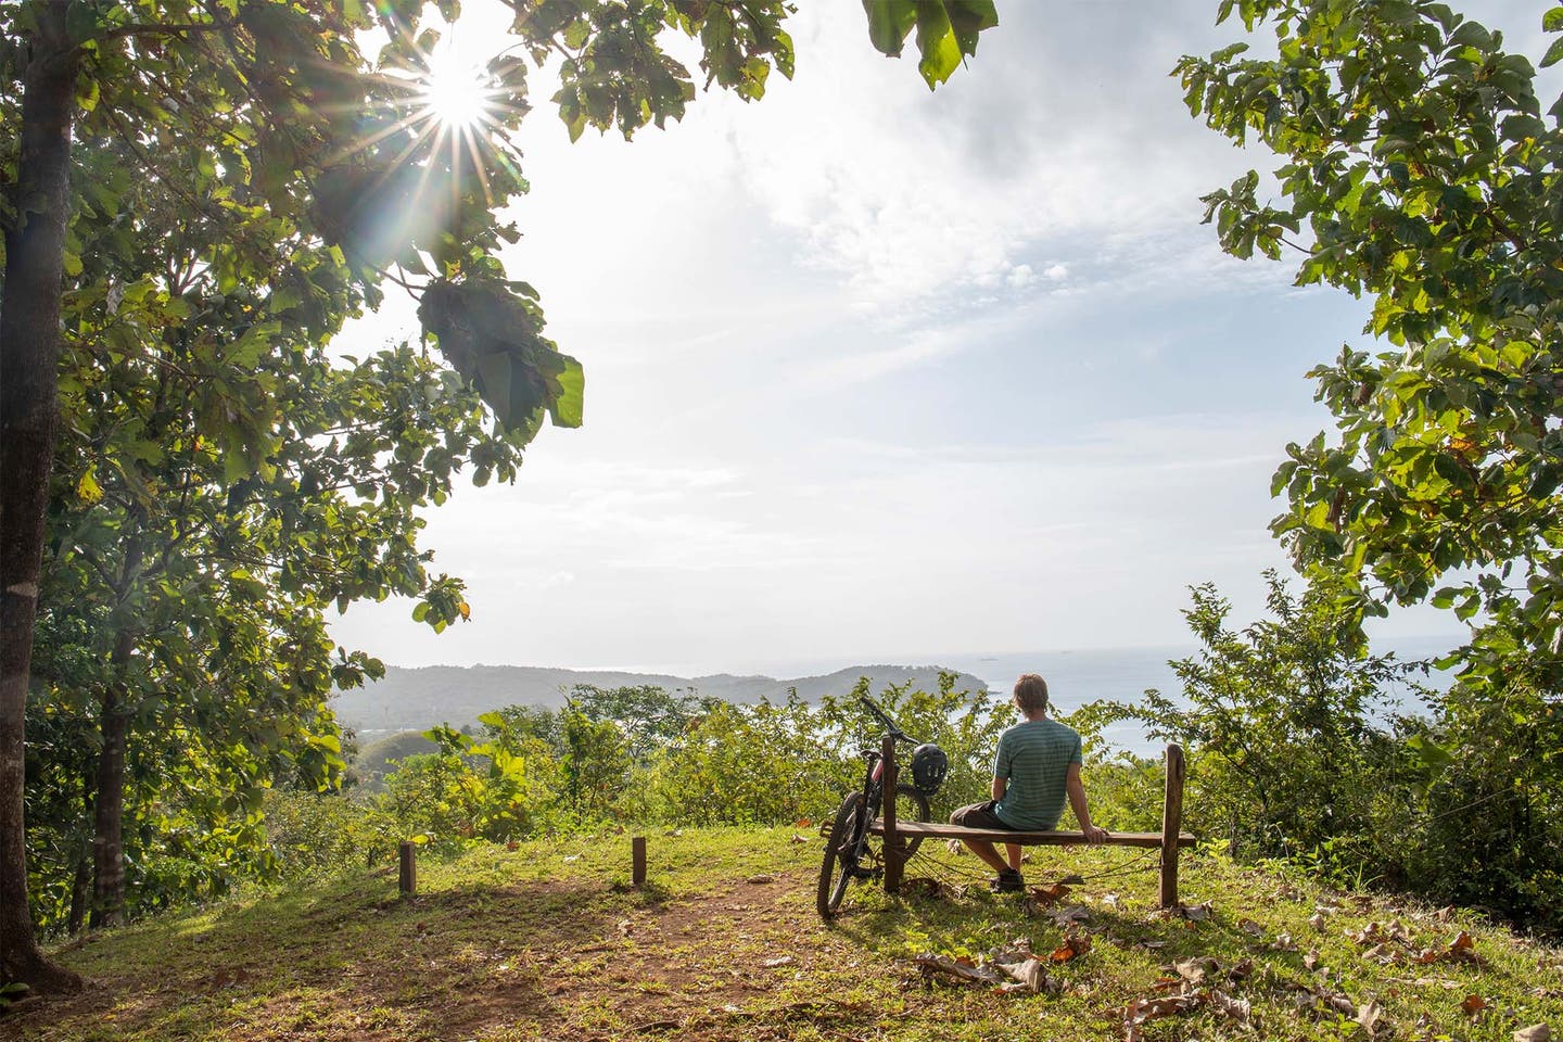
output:
[[38,573],[55,455],[59,297],[70,187],[70,127],[78,55],[66,3],[38,5],[22,73],[22,142],[5,228],[0,300],[0,981],[36,992],[81,978],[38,947],[27,901],[22,817],[27,689]]

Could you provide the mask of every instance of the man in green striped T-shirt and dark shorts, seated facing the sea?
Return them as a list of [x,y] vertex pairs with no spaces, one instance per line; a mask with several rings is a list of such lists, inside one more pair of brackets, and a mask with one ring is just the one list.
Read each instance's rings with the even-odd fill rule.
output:
[[[993,762],[993,798],[960,808],[950,814],[950,825],[1046,833],[1058,826],[1068,797],[1086,842],[1099,844],[1107,839],[1107,830],[1091,823],[1091,811],[1085,805],[1080,734],[1047,719],[1047,681],[1036,673],[1025,673],[1014,681],[1014,706],[1025,722],[999,736],[999,755]],[[1025,889],[1019,844],[1003,845],[1007,862],[988,840],[961,842],[999,873],[993,881],[994,890]]]

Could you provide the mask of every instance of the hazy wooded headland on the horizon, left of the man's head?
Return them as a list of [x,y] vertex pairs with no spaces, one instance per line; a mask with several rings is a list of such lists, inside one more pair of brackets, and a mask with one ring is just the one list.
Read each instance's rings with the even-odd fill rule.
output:
[[[545,669],[538,666],[425,666],[388,667],[384,680],[356,691],[338,692],[333,708],[344,725],[359,734],[424,730],[436,723],[474,723],[489,709],[511,705],[563,706],[564,694],[575,684],[625,687],[656,684],[675,691],[689,687],[725,701],[786,698],[788,687],[808,701],[821,695],[844,695],[858,676],[867,676],[874,691],[886,684],[913,681],[932,691],[939,683],[938,666],[852,666],[825,676],[671,676],[666,673],[617,673],[610,670]],[[971,673],[960,673],[957,687],[983,691],[986,684]]]

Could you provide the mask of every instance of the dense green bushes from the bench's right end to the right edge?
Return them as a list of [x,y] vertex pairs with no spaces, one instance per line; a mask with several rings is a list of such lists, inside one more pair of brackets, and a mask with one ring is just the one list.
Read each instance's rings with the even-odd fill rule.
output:
[[[1522,666],[1507,686],[1422,692],[1402,715],[1388,681],[1421,664],[1366,651],[1329,586],[1293,597],[1268,575],[1271,617],[1243,631],[1213,587],[1185,616],[1202,651],[1182,698],[1093,703],[1085,731],[1138,720],[1188,753],[1185,820],[1236,858],[1285,858],[1350,887],[1379,884],[1563,931],[1563,706]],[[1133,762],[1133,761],[1130,761]],[[1141,767],[1146,765],[1141,762]],[[1150,806],[1149,773],[1091,778],[1108,809]],[[1116,822],[1114,822],[1116,825]],[[1111,826],[1111,825],[1110,825]]]

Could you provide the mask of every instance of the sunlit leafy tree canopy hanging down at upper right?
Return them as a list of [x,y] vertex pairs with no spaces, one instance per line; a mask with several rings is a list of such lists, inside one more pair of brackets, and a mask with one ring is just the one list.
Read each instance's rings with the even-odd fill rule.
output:
[[[1444,3],[1224,0],[1233,14],[1271,25],[1277,55],[1233,44],[1177,75],[1193,114],[1285,159],[1285,203],[1250,172],[1205,197],[1207,220],[1235,256],[1289,247],[1299,284],[1366,295],[1393,348],[1313,370],[1335,433],[1288,448],[1274,531],[1364,611],[1432,600],[1475,620],[1468,681],[1555,691],[1563,108],[1543,114],[1530,61]],[[1560,56],[1563,39],[1543,64]]]

